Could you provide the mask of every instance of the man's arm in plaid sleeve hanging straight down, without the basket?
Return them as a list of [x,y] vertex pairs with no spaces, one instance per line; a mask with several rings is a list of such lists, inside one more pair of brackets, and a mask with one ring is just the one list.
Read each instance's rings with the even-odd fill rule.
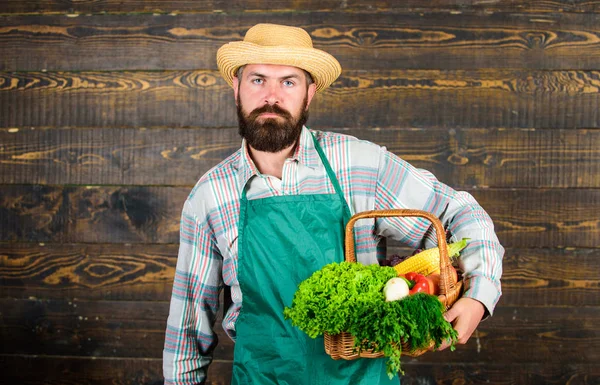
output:
[[217,344],[213,332],[223,287],[222,258],[208,221],[186,201],[180,246],[165,333],[163,374],[166,385],[203,384]]

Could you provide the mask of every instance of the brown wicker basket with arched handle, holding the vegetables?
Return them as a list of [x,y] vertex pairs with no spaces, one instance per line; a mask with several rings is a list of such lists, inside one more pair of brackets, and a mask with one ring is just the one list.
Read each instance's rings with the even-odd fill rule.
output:
[[[421,217],[431,221],[435,228],[437,243],[440,249],[440,295],[439,300],[447,310],[459,298],[462,291],[462,281],[457,281],[452,274],[450,258],[448,257],[448,247],[446,244],[446,233],[440,220],[431,213],[421,210],[373,210],[358,213],[348,221],[346,225],[345,235],[345,259],[347,262],[356,262],[354,249],[354,224],[356,221],[364,218],[383,218],[383,217]],[[383,357],[383,352],[374,353],[371,350],[357,352],[354,347],[354,337],[347,332],[331,335],[324,333],[325,337],[325,352],[334,360],[345,359],[354,360],[357,358],[378,358]],[[402,344],[402,354],[407,356],[420,356],[421,354],[431,350],[433,342],[428,349],[411,350],[405,342]]]

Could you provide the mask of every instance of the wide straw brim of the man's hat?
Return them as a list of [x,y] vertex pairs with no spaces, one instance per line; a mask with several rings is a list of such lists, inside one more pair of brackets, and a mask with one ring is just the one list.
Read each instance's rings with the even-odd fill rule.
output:
[[329,87],[342,73],[340,63],[316,48],[263,46],[244,41],[223,45],[217,51],[221,76],[233,87],[238,68],[246,64],[278,64],[301,68],[310,73],[317,92]]

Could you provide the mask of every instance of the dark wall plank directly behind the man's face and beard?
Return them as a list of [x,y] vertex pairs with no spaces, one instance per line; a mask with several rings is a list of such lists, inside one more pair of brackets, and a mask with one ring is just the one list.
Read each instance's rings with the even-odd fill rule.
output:
[[[599,79],[600,71],[347,70],[313,100],[309,125],[594,128]],[[0,127],[235,126],[233,91],[216,71],[0,72]]]

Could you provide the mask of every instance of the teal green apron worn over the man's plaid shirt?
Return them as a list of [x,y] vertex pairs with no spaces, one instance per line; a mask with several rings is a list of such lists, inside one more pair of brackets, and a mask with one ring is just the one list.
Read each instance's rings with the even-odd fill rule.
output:
[[333,360],[323,337],[312,339],[289,320],[298,284],[344,260],[350,210],[321,147],[315,148],[336,194],[274,196],[240,202],[238,281],[243,294],[236,322],[233,385],[398,384],[387,359]]

